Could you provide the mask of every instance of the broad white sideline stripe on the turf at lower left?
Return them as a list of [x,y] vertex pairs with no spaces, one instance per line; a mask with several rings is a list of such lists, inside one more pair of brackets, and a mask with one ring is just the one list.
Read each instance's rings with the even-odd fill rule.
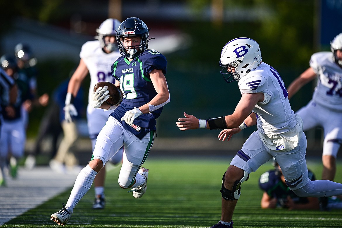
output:
[[73,186],[76,177],[57,174],[48,166],[19,168],[17,179],[7,177],[7,187],[0,187],[0,226]]

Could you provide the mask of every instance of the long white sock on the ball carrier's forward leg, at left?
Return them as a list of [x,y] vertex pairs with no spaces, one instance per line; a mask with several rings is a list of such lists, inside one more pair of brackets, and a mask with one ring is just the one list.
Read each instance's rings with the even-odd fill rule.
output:
[[90,168],[89,165],[84,167],[78,174],[73,190],[70,193],[68,202],[65,207],[71,211],[74,211],[76,204],[82,199],[82,197],[88,192],[96,176],[96,172]]

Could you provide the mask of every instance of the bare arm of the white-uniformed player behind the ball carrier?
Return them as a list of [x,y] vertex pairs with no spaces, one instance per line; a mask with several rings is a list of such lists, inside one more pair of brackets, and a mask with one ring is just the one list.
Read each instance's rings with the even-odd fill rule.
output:
[[77,96],[77,92],[81,87],[81,83],[88,75],[89,71],[86,63],[81,59],[76,71],[73,76],[71,76],[69,85],[68,85],[68,93],[72,93],[74,97]]

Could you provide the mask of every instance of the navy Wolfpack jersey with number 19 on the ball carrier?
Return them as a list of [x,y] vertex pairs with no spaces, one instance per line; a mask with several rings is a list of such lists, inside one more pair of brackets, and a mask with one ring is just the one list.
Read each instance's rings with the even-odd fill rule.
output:
[[110,115],[139,139],[142,139],[149,131],[156,129],[156,118],[161,114],[162,107],[137,117],[132,126],[121,121],[121,117],[134,107],[148,103],[157,95],[149,74],[154,69],[160,69],[165,75],[166,65],[167,61],[164,55],[155,50],[146,50],[131,62],[121,56],[111,66],[111,75],[120,81],[120,89],[124,95],[120,106]]

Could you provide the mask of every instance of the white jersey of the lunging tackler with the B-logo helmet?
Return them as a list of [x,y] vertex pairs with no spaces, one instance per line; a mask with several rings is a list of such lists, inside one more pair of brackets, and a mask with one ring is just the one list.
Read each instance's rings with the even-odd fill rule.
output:
[[255,105],[258,130],[266,135],[288,132],[297,121],[291,109],[288,93],[278,72],[270,65],[261,63],[239,80],[243,93],[264,93],[265,99]]

